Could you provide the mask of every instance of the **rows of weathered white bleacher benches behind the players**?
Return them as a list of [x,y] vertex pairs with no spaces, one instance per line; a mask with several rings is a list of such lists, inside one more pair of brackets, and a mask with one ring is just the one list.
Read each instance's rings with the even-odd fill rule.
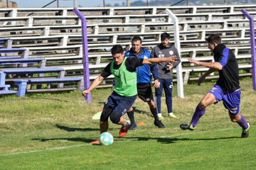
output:
[[[110,62],[110,48],[116,43],[128,50],[132,36],[140,35],[143,47],[151,50],[160,43],[159,37],[163,32],[170,33],[173,42],[174,23],[164,12],[166,8],[175,13],[179,21],[180,53],[185,82],[206,72],[205,68],[189,64],[186,57],[213,60],[205,42],[205,38],[212,33],[221,35],[223,42],[234,50],[240,64],[241,76],[250,75],[249,22],[240,10],[245,8],[252,16],[256,16],[255,5],[79,8],[87,18],[90,80],[95,79],[106,63]],[[18,81],[15,77],[8,77],[6,82],[11,82],[11,86],[5,89],[15,89],[14,85],[22,82],[26,86],[58,83],[59,88],[55,89],[61,90],[61,84],[70,83],[72,79],[79,86],[73,89],[82,89],[82,30],[73,8],[1,8],[0,26],[1,68],[33,67],[38,63],[40,67],[43,61],[41,67],[60,68],[66,78],[55,77],[53,80],[41,74],[41,77],[34,77],[33,80],[31,77],[26,77],[25,80],[21,77],[23,81]],[[18,52],[17,49],[23,51]],[[191,72],[196,73],[193,74],[194,77]],[[15,84],[12,79],[15,79]],[[106,85],[107,81],[103,86]],[[46,90],[38,91],[50,89],[52,88],[49,85]],[[30,90],[37,91],[26,89]]]

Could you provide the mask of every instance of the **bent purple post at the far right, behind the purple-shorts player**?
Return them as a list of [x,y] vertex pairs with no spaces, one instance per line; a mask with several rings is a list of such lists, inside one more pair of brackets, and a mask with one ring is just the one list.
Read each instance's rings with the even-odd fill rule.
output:
[[253,17],[245,10],[241,10],[242,14],[249,19],[250,21],[250,44],[251,44],[251,55],[252,55],[252,87],[253,90],[256,90],[256,51],[255,51],[255,28],[254,28],[254,20]]

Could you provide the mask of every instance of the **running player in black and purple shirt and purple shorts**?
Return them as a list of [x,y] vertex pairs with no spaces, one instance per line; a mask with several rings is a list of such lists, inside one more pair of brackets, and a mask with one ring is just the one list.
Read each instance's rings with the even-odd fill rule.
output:
[[218,71],[219,79],[210,89],[206,96],[198,103],[196,111],[193,113],[190,124],[181,124],[180,127],[183,130],[194,130],[198,123],[198,120],[206,112],[206,107],[210,104],[223,101],[223,105],[228,109],[230,120],[233,123],[238,123],[242,127],[241,137],[248,137],[250,123],[248,123],[240,113],[240,84],[239,84],[239,70],[238,62],[234,53],[228,47],[225,47],[221,43],[221,38],[217,34],[210,35],[206,38],[208,42],[208,48],[214,54],[215,62],[201,62],[188,57],[188,61],[208,67],[208,71],[198,79],[200,85],[210,73]]

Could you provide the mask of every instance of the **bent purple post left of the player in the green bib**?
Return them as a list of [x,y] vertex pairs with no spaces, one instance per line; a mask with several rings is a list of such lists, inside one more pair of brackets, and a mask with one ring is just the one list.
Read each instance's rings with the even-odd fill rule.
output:
[[[88,60],[88,42],[87,42],[87,21],[85,16],[78,10],[73,8],[75,15],[77,15],[82,21],[82,64],[83,64],[83,77],[84,88],[88,89],[90,86],[90,74],[89,74],[89,60]],[[86,101],[91,101],[91,94],[85,96]]]

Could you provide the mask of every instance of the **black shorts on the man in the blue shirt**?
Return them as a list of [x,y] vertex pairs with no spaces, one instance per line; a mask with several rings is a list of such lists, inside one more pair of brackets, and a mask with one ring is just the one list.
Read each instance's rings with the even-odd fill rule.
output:
[[137,83],[138,96],[142,101],[154,101],[151,85],[149,83]]

